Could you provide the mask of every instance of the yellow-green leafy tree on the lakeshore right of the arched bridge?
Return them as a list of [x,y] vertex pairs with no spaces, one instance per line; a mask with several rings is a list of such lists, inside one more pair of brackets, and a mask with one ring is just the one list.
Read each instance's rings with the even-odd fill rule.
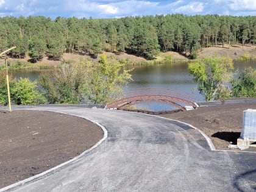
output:
[[205,96],[206,101],[222,99],[227,96],[229,82],[233,69],[232,59],[210,56],[203,60],[188,64],[188,71],[193,74],[197,89]]

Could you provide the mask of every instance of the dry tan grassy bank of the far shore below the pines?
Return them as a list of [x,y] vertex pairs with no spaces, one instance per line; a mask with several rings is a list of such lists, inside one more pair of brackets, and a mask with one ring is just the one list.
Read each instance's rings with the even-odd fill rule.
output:
[[[179,54],[178,52],[168,51],[168,52],[160,52],[160,54],[154,60],[146,60],[143,57],[138,57],[136,55],[130,55],[126,53],[115,54],[113,52],[103,52],[103,54],[107,55],[109,58],[115,58],[116,60],[127,59],[131,65],[140,65],[146,63],[160,63],[163,62],[166,56],[171,55],[172,60],[177,62],[188,61],[188,57],[185,57],[185,54]],[[229,44],[224,44],[222,48],[222,44],[219,44],[216,47],[209,47],[204,49],[199,49],[197,51],[197,59],[203,59],[208,55],[219,55],[221,57],[230,57],[233,60],[239,59],[253,59],[256,60],[256,46],[253,45],[245,45],[242,46],[241,44],[236,44],[233,46],[229,46]],[[98,59],[101,54],[98,55]],[[81,55],[81,54],[72,54],[72,53],[65,53],[63,54],[62,60],[53,61],[48,60],[48,57],[44,57],[43,60],[37,63],[29,63],[29,57],[27,56],[25,59],[12,59],[9,58],[8,61],[11,65],[15,65],[17,62],[21,62],[22,65],[29,65],[31,68],[37,68],[37,66],[44,66],[45,68],[51,68],[54,66],[60,66],[63,61],[67,62],[80,62],[83,60],[91,60],[92,62],[97,62],[98,59],[92,59],[88,55]],[[4,60],[0,60],[0,66],[4,65]]]

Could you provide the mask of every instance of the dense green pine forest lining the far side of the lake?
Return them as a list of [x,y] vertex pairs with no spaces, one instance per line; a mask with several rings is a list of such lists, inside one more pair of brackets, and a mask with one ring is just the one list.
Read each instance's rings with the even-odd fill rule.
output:
[[76,17],[55,20],[44,16],[0,18],[0,50],[16,46],[10,57],[31,62],[47,55],[59,60],[65,52],[97,57],[102,51],[127,52],[154,59],[160,52],[191,54],[224,44],[255,44],[256,16],[182,14],[118,19]]

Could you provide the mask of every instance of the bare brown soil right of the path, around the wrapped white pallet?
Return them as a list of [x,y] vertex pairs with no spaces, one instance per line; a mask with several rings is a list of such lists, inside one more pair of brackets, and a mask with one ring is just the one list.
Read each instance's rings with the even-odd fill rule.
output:
[[[197,127],[210,137],[216,149],[227,150],[230,142],[236,144],[236,140],[240,137],[243,127],[243,111],[248,108],[256,109],[256,104],[223,104],[160,116]],[[256,152],[256,148],[250,147],[246,151]]]

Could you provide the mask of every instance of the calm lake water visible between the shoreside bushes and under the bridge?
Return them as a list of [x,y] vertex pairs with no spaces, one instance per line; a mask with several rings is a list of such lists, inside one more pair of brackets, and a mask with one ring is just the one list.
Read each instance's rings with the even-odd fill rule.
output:
[[[234,66],[235,70],[242,70],[248,66],[256,68],[256,61],[235,62]],[[41,71],[13,71],[12,76],[17,79],[28,77],[30,80],[37,80],[40,73]],[[204,97],[196,89],[193,76],[187,71],[187,63],[135,66],[131,74],[133,81],[124,87],[124,92],[133,88],[169,88],[193,94],[197,101],[204,101]],[[160,104],[151,105],[162,106]],[[165,107],[162,106],[162,108]]]

